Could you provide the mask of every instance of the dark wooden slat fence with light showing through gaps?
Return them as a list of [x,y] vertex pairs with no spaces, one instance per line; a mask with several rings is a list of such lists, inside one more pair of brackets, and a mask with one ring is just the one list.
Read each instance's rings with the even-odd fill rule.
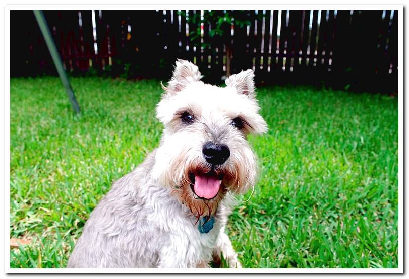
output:
[[[214,22],[191,23],[208,11],[44,11],[68,72],[129,78],[170,76],[176,58],[198,64],[205,81],[226,71]],[[253,68],[259,84],[312,84],[397,92],[397,11],[227,11],[232,73]],[[223,18],[226,11],[217,11]],[[201,36],[191,40],[193,30]],[[201,43],[211,42],[202,47]],[[55,75],[32,11],[11,12],[11,75]]]

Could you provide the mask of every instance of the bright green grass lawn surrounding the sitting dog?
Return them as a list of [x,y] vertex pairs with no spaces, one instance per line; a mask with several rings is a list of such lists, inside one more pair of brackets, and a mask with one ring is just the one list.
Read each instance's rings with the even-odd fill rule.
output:
[[[159,142],[158,81],[11,80],[10,266],[65,267],[113,180]],[[258,90],[269,125],[249,141],[260,179],[230,217],[244,267],[398,267],[397,98],[304,87]],[[239,197],[245,200],[250,193]]]

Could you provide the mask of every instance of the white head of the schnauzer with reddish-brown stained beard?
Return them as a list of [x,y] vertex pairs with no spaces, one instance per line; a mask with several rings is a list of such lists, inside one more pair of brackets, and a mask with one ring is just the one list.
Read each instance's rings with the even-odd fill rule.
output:
[[157,105],[164,125],[152,170],[198,218],[213,215],[227,191],[244,193],[257,163],[250,133],[267,130],[251,70],[231,75],[226,87],[204,84],[196,65],[178,60]]

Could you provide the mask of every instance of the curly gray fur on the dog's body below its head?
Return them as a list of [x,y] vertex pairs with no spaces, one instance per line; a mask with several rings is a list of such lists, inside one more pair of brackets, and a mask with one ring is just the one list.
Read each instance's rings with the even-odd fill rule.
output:
[[[194,255],[206,255],[211,260],[212,251],[221,249],[209,246],[219,234],[224,234],[227,220],[220,213],[230,212],[225,206],[228,198],[219,206],[215,227],[208,234],[200,234],[194,226],[196,218],[189,216],[188,208],[171,197],[168,188],[151,180],[149,170],[155,163],[155,152],[116,181],[98,203],[84,226],[68,268],[196,267],[199,257]],[[189,232],[181,234],[181,227]],[[189,245],[198,239],[205,244],[203,247]],[[173,251],[167,249],[174,247],[172,242],[187,247],[177,253],[179,259],[174,259]]]

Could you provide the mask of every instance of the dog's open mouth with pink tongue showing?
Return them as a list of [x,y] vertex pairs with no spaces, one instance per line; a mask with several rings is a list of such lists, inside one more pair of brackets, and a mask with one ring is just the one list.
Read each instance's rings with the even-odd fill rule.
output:
[[193,191],[193,197],[196,199],[213,199],[219,193],[223,174],[217,175],[214,172],[209,173],[189,173],[190,188]]

